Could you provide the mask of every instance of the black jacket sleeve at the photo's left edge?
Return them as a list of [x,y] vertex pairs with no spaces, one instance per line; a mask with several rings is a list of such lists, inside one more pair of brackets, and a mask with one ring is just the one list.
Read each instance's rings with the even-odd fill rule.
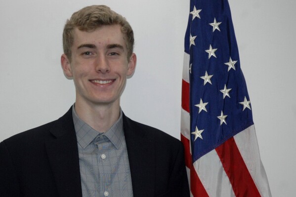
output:
[[0,196],[20,197],[17,173],[4,141],[0,143]]

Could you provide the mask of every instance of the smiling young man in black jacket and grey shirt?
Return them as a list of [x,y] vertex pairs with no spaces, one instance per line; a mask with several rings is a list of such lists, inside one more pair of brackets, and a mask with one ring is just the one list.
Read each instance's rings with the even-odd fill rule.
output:
[[121,111],[133,42],[126,19],[107,6],[72,15],[61,65],[76,102],[0,143],[1,197],[189,197],[181,142]]

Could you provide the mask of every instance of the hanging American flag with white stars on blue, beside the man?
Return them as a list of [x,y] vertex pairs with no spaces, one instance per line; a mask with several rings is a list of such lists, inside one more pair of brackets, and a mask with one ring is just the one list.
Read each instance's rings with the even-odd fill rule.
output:
[[191,0],[181,141],[193,197],[269,197],[227,0]]

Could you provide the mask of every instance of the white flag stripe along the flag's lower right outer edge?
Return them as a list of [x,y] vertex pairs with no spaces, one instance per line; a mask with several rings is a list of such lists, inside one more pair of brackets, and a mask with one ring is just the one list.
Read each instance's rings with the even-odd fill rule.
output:
[[234,140],[261,197],[271,197],[265,169],[260,159],[254,125],[236,134]]

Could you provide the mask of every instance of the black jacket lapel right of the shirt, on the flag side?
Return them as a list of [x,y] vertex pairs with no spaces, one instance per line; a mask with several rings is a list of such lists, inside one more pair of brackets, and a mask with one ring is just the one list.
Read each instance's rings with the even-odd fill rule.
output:
[[148,132],[143,130],[139,123],[127,118],[124,114],[123,120],[133,196],[152,197],[156,167],[153,139],[147,135]]

